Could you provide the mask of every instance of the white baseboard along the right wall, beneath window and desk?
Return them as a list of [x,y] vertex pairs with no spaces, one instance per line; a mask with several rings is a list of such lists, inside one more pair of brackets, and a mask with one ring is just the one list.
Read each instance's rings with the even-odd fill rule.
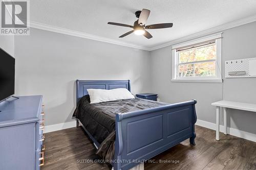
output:
[[[206,122],[204,120],[199,120],[198,119],[196,125],[202,126],[204,128],[216,130],[216,124]],[[220,125],[220,131],[224,132],[224,126],[223,125]],[[253,134],[253,133],[249,133],[249,132],[245,132],[245,131],[241,131],[241,130],[238,130],[238,129],[227,127],[227,134],[237,136],[237,137],[241,137],[241,138],[256,142],[256,134]]]

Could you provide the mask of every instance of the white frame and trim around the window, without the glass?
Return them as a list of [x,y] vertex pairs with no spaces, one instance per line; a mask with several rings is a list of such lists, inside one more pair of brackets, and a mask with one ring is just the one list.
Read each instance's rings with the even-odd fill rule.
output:
[[[216,76],[215,77],[179,77],[178,76],[178,55],[177,48],[193,46],[194,44],[215,40],[216,42]],[[205,36],[192,41],[179,43],[172,46],[172,82],[195,82],[195,83],[222,83],[221,76],[221,41],[222,33]]]

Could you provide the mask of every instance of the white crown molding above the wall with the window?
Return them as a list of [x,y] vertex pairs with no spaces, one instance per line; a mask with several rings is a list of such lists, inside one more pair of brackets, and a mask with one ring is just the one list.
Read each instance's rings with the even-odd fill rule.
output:
[[207,29],[207,30],[195,33],[195,34],[191,34],[191,35],[188,35],[188,36],[185,36],[185,37],[182,37],[182,38],[178,38],[178,39],[175,39],[175,40],[157,45],[155,47],[150,48],[150,51],[157,50],[159,48],[163,48],[163,47],[170,46],[170,45],[175,45],[175,44],[182,43],[182,42],[185,42],[185,41],[193,40],[193,39],[200,38],[200,37],[203,37],[203,36],[207,36],[207,35],[210,35],[210,34],[216,34],[218,32],[222,32],[222,31],[230,29],[230,28],[242,26],[242,25],[245,25],[246,23],[250,23],[250,22],[254,22],[254,21],[256,21],[256,15],[251,15],[249,17],[234,20],[234,21],[225,23],[223,25],[220,25],[220,26],[217,26],[217,27],[214,27],[214,28],[211,28],[211,29]]

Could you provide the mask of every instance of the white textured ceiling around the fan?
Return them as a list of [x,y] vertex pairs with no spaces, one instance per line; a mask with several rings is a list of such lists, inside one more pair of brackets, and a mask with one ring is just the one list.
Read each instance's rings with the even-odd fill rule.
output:
[[[30,6],[31,21],[146,48],[256,14],[255,0],[33,0]],[[134,34],[118,38],[131,29],[107,24],[133,25],[135,12],[142,8],[151,10],[147,25],[173,22],[174,27],[149,30],[151,39]]]

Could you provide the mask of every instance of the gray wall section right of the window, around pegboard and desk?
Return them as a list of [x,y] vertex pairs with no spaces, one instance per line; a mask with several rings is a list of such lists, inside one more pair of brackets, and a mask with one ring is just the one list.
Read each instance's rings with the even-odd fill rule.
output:
[[[256,22],[224,31],[223,37],[223,63],[225,60],[256,57]],[[256,104],[256,78],[224,79],[223,100]],[[228,113],[229,117],[231,115],[229,126],[256,134],[255,112],[228,110]]]

